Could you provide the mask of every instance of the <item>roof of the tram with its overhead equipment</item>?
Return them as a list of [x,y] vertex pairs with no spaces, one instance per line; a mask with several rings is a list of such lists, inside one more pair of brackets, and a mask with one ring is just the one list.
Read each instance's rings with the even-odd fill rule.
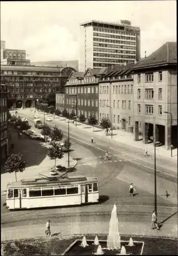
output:
[[46,178],[32,178],[24,179],[17,182],[7,184],[7,188],[26,188],[26,187],[47,187],[47,186],[66,186],[74,184],[85,184],[90,182],[97,182],[95,177],[85,177],[83,175],[67,176],[63,179],[49,180]]

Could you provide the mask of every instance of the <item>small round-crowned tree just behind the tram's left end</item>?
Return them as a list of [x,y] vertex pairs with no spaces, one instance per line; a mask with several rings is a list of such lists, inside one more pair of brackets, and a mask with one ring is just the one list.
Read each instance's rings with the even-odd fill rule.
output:
[[15,172],[15,180],[17,181],[17,173],[22,173],[26,168],[26,161],[23,161],[22,154],[12,154],[8,157],[5,162],[5,172],[6,173],[14,173]]

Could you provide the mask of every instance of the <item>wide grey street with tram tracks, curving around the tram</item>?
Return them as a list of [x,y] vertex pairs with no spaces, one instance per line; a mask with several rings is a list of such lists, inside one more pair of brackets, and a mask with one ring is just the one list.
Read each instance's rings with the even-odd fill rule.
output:
[[[18,113],[21,117],[27,117],[32,129],[35,130],[33,125],[34,113],[29,110],[20,110]],[[58,125],[65,134],[64,138],[67,136],[67,125],[63,124],[62,121],[60,122],[58,118],[50,122],[49,125]],[[40,133],[40,130],[38,131]],[[97,177],[100,195],[99,204],[15,212],[10,212],[3,207],[2,227],[24,225],[24,223],[26,225],[27,223],[35,224],[39,217],[40,221],[43,222],[43,219],[55,219],[59,218],[60,215],[61,217],[66,215],[90,216],[91,212],[100,212],[100,216],[103,214],[110,215],[110,209],[114,203],[117,205],[118,215],[122,216],[125,221],[139,222],[144,220],[149,222],[151,212],[154,209],[153,163],[150,160],[146,162],[145,159],[142,159],[143,157],[140,156],[139,151],[133,152],[132,148],[128,151],[128,148],[123,145],[115,145],[114,142],[107,142],[106,145],[103,138],[97,139],[97,142],[91,145],[90,137],[87,137],[86,133],[81,131],[80,135],[77,134],[76,127],[72,123],[70,124],[70,141],[73,150],[70,154],[78,160],[77,166],[75,166],[75,174]],[[111,144],[112,146],[110,146]],[[107,162],[104,160],[106,151],[109,152]],[[164,161],[166,162],[166,160]],[[159,165],[158,170],[160,170],[157,176],[158,218],[164,220],[177,210],[177,183],[175,172],[171,169]],[[161,173],[163,170],[164,174]],[[129,195],[131,183],[134,184],[136,189],[134,197]],[[166,198],[166,190],[170,194],[168,198]],[[3,202],[5,202],[5,196],[2,197]],[[167,222],[176,224],[176,215]]]

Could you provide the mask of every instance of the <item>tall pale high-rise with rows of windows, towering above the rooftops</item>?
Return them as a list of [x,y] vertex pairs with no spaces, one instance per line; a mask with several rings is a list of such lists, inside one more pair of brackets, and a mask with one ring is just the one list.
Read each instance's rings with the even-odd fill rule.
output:
[[79,71],[140,60],[140,28],[128,20],[117,23],[92,20],[80,25]]

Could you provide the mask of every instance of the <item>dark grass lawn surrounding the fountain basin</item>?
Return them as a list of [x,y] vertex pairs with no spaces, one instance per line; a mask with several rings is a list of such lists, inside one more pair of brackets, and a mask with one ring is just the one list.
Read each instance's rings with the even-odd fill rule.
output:
[[[87,239],[94,239],[94,236],[88,235]],[[175,255],[177,254],[177,241],[173,239],[162,238],[143,238],[132,237],[133,241],[144,242],[143,254],[152,255]],[[61,255],[67,247],[76,239],[82,239],[80,236],[73,236],[68,239],[59,237],[35,238],[26,240],[14,240],[2,242],[2,255]],[[106,236],[98,236],[99,240],[106,240]],[[121,240],[128,240],[129,237],[121,236]],[[69,254],[68,254],[69,255]]]

